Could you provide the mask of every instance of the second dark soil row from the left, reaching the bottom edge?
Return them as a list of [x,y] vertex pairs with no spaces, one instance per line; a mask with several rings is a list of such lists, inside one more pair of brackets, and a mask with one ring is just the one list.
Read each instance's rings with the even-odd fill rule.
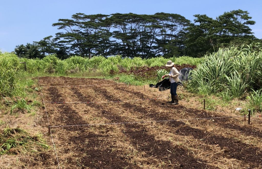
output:
[[[112,95],[108,95],[106,91],[101,88],[93,87],[94,91],[104,97],[107,100],[116,99]],[[83,94],[77,92],[76,93],[79,98],[83,100],[89,100],[90,98],[84,97]],[[121,101],[121,99],[117,99]],[[118,103],[113,103],[118,106]],[[88,104],[89,105],[89,104]],[[127,119],[123,119],[123,117],[113,114],[113,112],[101,110],[99,106],[96,104],[92,105],[93,108],[96,108],[97,111],[102,111],[102,116],[109,119],[112,123],[115,122],[129,122]],[[141,124],[125,124],[125,131],[123,132],[125,135],[129,136],[130,141],[133,143],[134,147],[137,147],[137,150],[144,151],[145,158],[154,156],[156,159],[160,159],[160,161],[168,161],[171,162],[172,165],[166,166],[166,168],[173,167],[182,167],[182,168],[212,168],[207,165],[207,162],[204,160],[197,160],[193,156],[188,155],[188,151],[177,147],[172,146],[172,144],[168,141],[156,140],[153,135],[150,134],[150,131],[145,130],[143,125]],[[170,153],[170,151],[172,153]],[[154,161],[148,161],[148,164],[154,163]],[[167,163],[168,164],[168,163]]]

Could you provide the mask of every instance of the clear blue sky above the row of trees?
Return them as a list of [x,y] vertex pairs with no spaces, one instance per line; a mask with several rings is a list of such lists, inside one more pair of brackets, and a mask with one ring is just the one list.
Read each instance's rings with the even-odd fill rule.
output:
[[262,38],[261,0],[24,0],[0,3],[0,49],[11,52],[16,45],[40,41],[59,32],[52,24],[69,19],[75,13],[112,14],[157,12],[177,13],[193,21],[194,14],[215,18],[226,11],[247,10],[256,21],[250,26],[257,38]]

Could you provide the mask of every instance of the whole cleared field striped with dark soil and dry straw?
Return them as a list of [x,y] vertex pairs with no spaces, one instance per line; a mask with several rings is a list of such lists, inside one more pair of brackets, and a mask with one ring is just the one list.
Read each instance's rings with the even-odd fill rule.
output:
[[[184,94],[189,99],[179,105],[168,105],[163,97],[169,91],[112,83],[40,77],[39,85],[57,86],[42,87],[46,109],[37,120],[50,150],[35,162],[24,162],[25,168],[262,168],[261,122],[248,125],[243,117],[222,118],[239,113],[201,110],[203,105],[190,95]],[[83,86],[98,84],[111,85]],[[152,98],[162,99],[143,100]],[[121,102],[126,100],[140,101]],[[48,120],[51,126],[64,127],[52,127],[48,137]],[[162,122],[129,123],[142,121]],[[90,125],[105,123],[124,124]]]

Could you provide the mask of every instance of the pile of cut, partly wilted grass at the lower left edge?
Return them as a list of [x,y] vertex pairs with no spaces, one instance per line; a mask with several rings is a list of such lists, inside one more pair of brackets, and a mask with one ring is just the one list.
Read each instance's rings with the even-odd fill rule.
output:
[[48,145],[41,134],[30,136],[21,128],[4,128],[0,134],[0,154],[20,154],[26,151],[37,152]]

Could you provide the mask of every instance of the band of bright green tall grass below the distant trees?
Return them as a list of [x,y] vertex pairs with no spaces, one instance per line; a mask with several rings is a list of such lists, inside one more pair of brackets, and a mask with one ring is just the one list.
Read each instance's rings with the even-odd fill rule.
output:
[[[15,58],[14,54],[6,53],[2,54],[6,58],[12,57]],[[17,58],[17,57],[16,57]],[[112,57],[102,57],[96,56],[92,59],[83,58],[80,56],[72,56],[65,60],[58,59],[55,55],[48,55],[43,59],[26,59],[26,58],[17,58],[17,63],[26,62],[27,71],[30,74],[35,73],[48,73],[56,75],[67,75],[70,73],[79,73],[79,72],[99,72],[105,76],[109,75],[111,71],[118,72],[119,70],[130,70],[131,67],[140,67],[140,66],[163,66],[168,60],[174,61],[175,64],[190,64],[198,65],[203,59],[201,58],[191,58],[191,57],[179,57],[179,58],[169,58],[165,59],[163,57],[151,58],[151,59],[141,59],[135,57],[122,58],[120,55]],[[23,65],[18,66],[19,71],[23,71]]]

